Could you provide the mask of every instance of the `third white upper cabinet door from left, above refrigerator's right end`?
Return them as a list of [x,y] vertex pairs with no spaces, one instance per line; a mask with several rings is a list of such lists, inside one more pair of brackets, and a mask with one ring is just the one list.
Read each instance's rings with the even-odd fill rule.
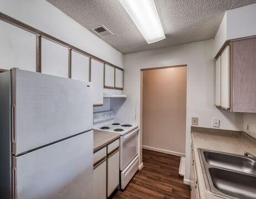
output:
[[72,50],[71,61],[71,78],[89,81],[89,57]]

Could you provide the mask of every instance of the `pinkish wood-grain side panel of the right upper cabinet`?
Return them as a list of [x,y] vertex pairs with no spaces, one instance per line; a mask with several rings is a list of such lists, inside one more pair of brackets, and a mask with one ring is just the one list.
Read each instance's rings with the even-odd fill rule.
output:
[[232,111],[256,113],[256,38],[233,41]]

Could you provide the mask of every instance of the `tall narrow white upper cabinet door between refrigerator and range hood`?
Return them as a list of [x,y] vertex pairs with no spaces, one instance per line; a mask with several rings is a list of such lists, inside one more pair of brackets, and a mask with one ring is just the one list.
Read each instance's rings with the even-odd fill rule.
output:
[[104,64],[91,59],[91,82],[93,83],[93,105],[103,105]]

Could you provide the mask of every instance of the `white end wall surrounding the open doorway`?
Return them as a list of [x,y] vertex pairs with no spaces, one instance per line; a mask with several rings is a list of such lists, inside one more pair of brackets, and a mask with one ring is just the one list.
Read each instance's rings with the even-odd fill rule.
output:
[[[199,41],[168,48],[124,55],[124,93],[135,98],[135,104],[124,104],[122,112],[135,108],[133,119],[140,124],[140,69],[187,64],[186,172],[190,176],[191,117],[199,118],[199,127],[212,128],[212,119],[220,119],[220,128],[243,130],[243,114],[220,111],[214,106],[214,40]],[[153,95],[153,93],[152,93]],[[128,98],[129,98],[128,97]],[[134,107],[135,106],[135,107]],[[121,110],[120,110],[121,111]],[[142,132],[140,131],[140,154]],[[140,163],[142,156],[140,155]]]

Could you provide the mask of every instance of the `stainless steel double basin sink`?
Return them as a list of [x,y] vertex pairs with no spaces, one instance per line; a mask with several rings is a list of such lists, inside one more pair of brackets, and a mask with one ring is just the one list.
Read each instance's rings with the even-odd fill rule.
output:
[[256,158],[198,149],[207,191],[222,198],[256,198]]

